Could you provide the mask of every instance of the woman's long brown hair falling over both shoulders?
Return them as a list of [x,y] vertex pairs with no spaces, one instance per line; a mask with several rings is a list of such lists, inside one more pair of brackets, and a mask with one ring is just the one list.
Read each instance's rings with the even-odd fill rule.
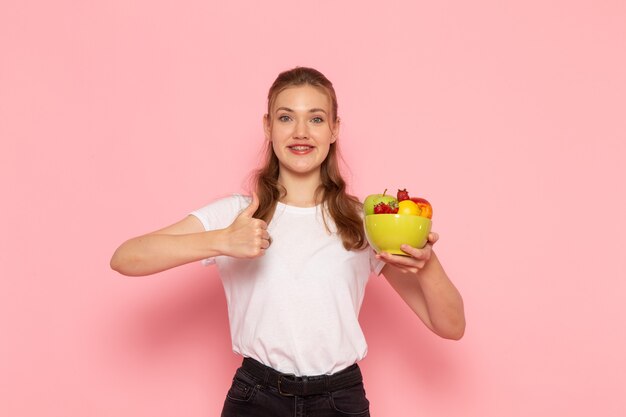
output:
[[[337,95],[332,83],[321,72],[306,67],[281,72],[267,95],[267,114],[271,114],[272,105],[278,94],[294,86],[310,85],[324,91],[331,100],[331,120],[337,123]],[[269,117],[269,116],[268,116]],[[321,181],[315,193],[316,201],[328,210],[347,250],[360,249],[365,246],[365,231],[361,219],[361,203],[346,192],[346,182],[339,170],[339,150],[337,141],[330,144],[328,156],[320,167]],[[255,173],[254,181],[259,196],[259,208],[254,217],[270,222],[276,211],[276,205],[287,191],[278,183],[279,162],[272,143],[268,141],[265,150],[265,163]],[[322,215],[325,210],[322,209]],[[324,222],[326,218],[324,217]],[[328,226],[327,226],[328,229]]]

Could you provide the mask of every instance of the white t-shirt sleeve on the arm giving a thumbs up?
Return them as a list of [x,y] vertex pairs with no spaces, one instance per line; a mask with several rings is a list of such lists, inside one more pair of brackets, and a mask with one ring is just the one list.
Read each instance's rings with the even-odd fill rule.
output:
[[[241,211],[250,204],[250,198],[240,194],[220,198],[189,213],[200,220],[204,230],[219,230],[230,226]],[[215,263],[215,258],[202,261],[204,265]]]

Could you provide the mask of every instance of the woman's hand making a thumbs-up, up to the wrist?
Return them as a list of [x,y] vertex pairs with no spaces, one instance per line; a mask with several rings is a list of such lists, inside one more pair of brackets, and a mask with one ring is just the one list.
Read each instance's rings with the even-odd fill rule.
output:
[[252,193],[252,201],[226,228],[225,255],[235,258],[257,258],[270,246],[267,223],[252,217],[259,208],[259,197]]

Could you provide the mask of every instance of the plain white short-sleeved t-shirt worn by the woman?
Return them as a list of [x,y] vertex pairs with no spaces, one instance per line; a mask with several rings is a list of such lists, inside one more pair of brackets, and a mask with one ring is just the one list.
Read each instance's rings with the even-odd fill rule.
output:
[[[206,230],[228,227],[250,199],[233,195],[191,214]],[[361,360],[367,344],[358,322],[370,274],[384,263],[374,251],[347,251],[321,206],[278,203],[272,237],[256,259],[218,256],[233,350],[280,372],[322,375]]]

